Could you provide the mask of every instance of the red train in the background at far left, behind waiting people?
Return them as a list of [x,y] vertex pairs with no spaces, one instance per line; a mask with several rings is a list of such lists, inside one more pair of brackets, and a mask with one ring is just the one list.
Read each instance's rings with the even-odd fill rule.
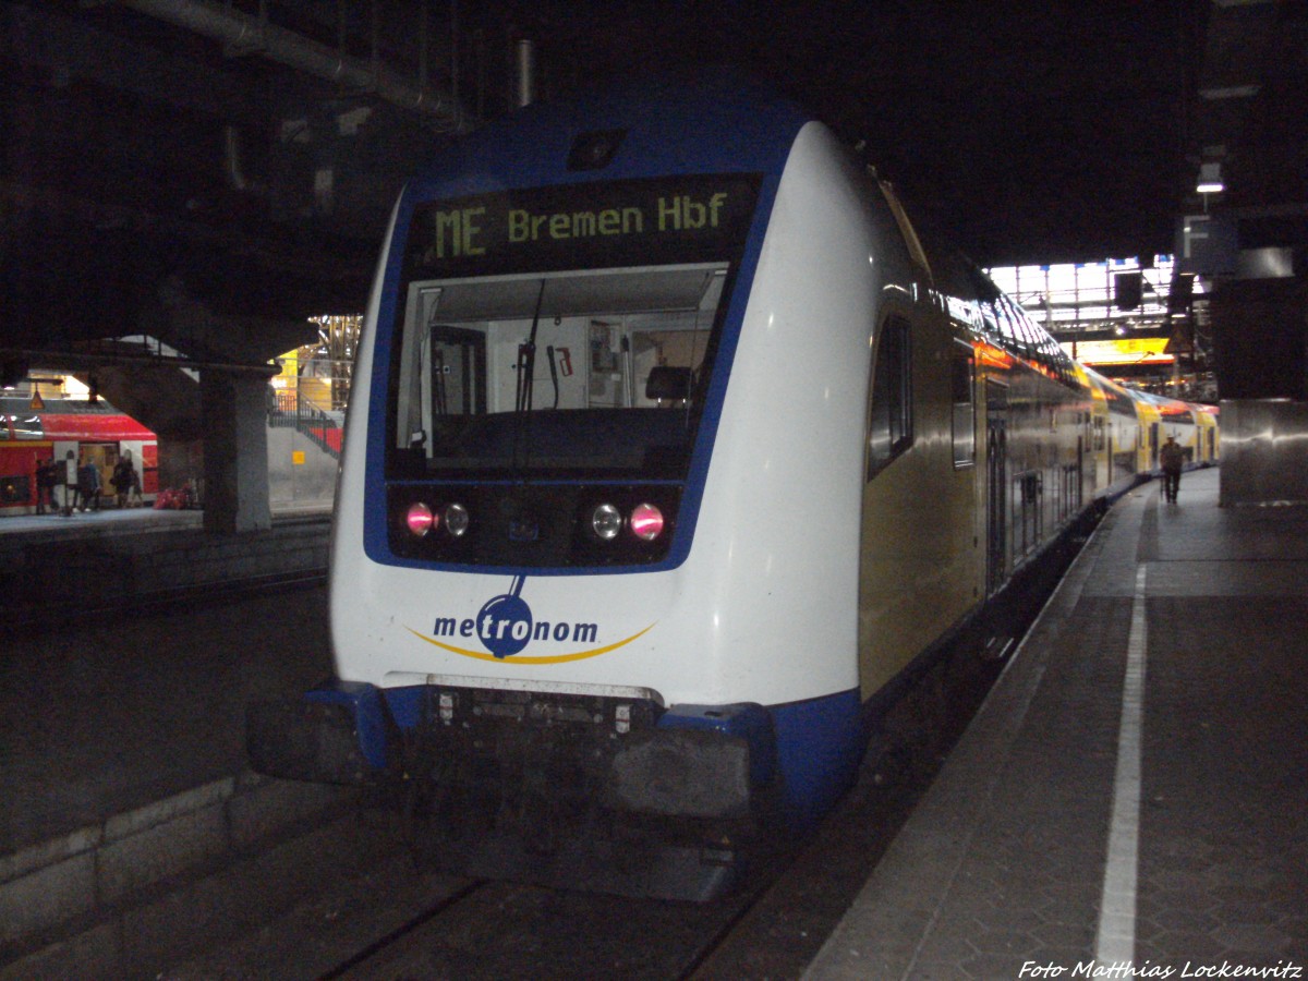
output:
[[[78,467],[95,467],[101,506],[114,506],[111,477],[120,459],[136,471],[146,504],[158,492],[158,438],[103,399],[41,398],[7,391],[0,396],[0,515],[38,511],[37,471],[42,463],[63,462],[72,450]],[[56,510],[65,488],[54,489]]]

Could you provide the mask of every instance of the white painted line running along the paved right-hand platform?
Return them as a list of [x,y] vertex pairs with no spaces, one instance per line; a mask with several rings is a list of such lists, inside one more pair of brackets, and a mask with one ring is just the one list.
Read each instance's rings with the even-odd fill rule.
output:
[[1117,730],[1117,776],[1108,832],[1104,893],[1099,904],[1095,959],[1122,964],[1135,957],[1135,876],[1139,854],[1141,748],[1144,719],[1144,663],[1148,636],[1144,620],[1144,565],[1135,570],[1131,633],[1126,641],[1122,721]]

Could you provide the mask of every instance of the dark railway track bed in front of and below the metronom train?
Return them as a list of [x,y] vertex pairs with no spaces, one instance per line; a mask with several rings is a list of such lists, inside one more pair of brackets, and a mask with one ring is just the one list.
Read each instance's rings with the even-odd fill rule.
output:
[[[997,674],[942,666],[892,719],[854,791],[802,848],[696,905],[421,871],[400,845],[362,875],[160,981],[277,977],[797,977],[818,954]],[[940,697],[943,704],[935,704]],[[942,727],[940,719],[954,725]],[[324,857],[330,875],[330,857]],[[252,884],[251,888],[258,888]]]

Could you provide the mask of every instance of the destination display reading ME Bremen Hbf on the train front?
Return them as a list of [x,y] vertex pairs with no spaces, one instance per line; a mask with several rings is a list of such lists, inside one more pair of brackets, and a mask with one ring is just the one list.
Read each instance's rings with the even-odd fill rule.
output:
[[759,198],[755,177],[579,183],[433,201],[415,209],[405,273],[700,262],[736,252]]

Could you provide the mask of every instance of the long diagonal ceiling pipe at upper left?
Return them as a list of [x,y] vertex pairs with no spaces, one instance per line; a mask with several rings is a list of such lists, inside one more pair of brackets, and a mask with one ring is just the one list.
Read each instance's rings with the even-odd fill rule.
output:
[[306,75],[339,82],[349,89],[373,92],[387,102],[430,119],[443,129],[462,132],[466,126],[463,110],[439,88],[409,85],[381,64],[347,58],[326,44],[277,27],[264,18],[220,7],[213,0],[120,3],[139,13],[203,34],[229,48],[258,52]]

